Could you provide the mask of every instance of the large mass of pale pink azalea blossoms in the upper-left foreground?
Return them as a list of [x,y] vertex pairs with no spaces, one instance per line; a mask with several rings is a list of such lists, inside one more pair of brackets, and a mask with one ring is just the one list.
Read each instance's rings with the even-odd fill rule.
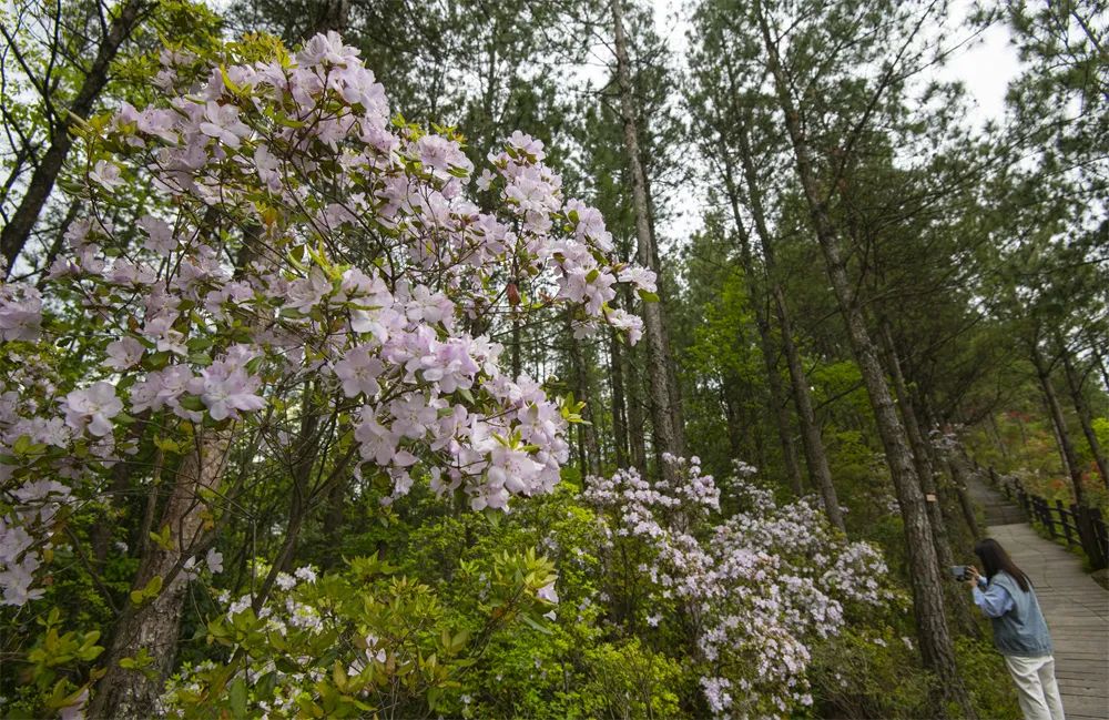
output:
[[[143,440],[121,432],[140,417],[248,438],[301,412],[343,418],[356,475],[391,497],[419,478],[475,509],[550,490],[577,418],[500,369],[496,335],[562,304],[579,334],[608,324],[634,342],[639,318],[608,302],[619,283],[648,297],[653,274],[611,257],[600,213],[563,196],[539,140],[518,132],[490,154],[484,212],[461,139],[390,120],[337,34],[272,54],[214,67],[166,51],[161,100],[81,131],[89,212],[49,268],[51,302],[0,284],[0,337],[6,354],[50,345],[64,318],[100,364],[33,407],[20,377],[0,378],[16,398],[0,477],[92,483]],[[153,195],[133,197],[136,183]],[[10,453],[23,436],[58,452]]]

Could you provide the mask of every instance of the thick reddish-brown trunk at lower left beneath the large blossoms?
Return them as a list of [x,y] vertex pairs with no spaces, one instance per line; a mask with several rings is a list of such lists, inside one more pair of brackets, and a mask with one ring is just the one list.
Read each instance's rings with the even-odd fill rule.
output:
[[[197,432],[202,434],[196,437],[196,447],[181,460],[155,530],[169,528],[171,549],[146,544],[132,585],[133,590],[139,590],[157,577],[162,590],[141,606],[130,604],[118,620],[104,662],[106,673],[98,684],[90,717],[153,717],[162,683],[172,669],[189,587],[181,568],[207,546],[210,533],[204,518],[207,505],[201,494],[218,486],[232,436],[230,430]],[[153,679],[139,670],[120,667],[121,659],[136,657],[143,650],[153,658],[149,667]]]

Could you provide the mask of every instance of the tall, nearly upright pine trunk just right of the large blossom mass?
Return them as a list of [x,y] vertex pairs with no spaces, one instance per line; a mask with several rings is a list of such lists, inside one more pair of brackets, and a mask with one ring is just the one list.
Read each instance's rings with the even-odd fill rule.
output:
[[[635,100],[631,83],[628,43],[623,30],[622,0],[612,0],[612,23],[615,29],[617,75],[620,82],[620,114],[623,118],[624,155],[632,181],[632,201],[635,209],[635,237],[639,263],[654,267],[654,239],[648,217],[647,179],[639,158],[639,131],[635,125]],[[662,303],[643,303],[643,328],[647,336],[648,378],[651,393],[651,420],[654,426],[655,454],[681,455],[678,432],[674,427],[673,388],[670,386],[665,327]],[[669,475],[663,463],[662,473]]]

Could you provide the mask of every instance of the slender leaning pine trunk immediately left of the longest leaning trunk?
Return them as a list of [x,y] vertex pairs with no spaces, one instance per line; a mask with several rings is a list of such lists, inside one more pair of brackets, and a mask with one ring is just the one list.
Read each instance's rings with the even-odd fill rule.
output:
[[[729,65],[731,77],[731,65]],[[763,205],[762,187],[759,173],[755,171],[754,153],[751,150],[751,139],[747,135],[747,123],[739,128],[740,163],[743,165],[743,176],[746,180],[747,201],[751,216],[754,221],[755,234],[766,263],[766,274],[770,278],[771,295],[774,298],[774,313],[782,329],[782,351],[785,353],[785,364],[790,369],[790,385],[793,388],[793,404],[797,408],[797,419],[801,424],[801,437],[805,449],[805,465],[808,468],[808,479],[821,494],[824,513],[828,521],[844,530],[843,513],[840,511],[840,497],[832,481],[832,469],[828,467],[827,452],[824,438],[816,423],[816,412],[813,409],[813,398],[810,394],[808,377],[801,359],[801,353],[793,341],[793,322],[790,308],[785,303],[785,292],[777,277],[777,263],[774,254],[774,237],[766,224],[766,211]]]

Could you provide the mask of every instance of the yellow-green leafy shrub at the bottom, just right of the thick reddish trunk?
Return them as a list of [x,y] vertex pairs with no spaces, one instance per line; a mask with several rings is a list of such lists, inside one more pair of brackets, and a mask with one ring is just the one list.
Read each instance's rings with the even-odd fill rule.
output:
[[456,581],[475,586],[475,612],[444,605],[433,588],[376,558],[317,577],[279,574],[257,612],[248,595],[207,625],[221,657],[184,669],[163,697],[170,717],[396,717],[458,712],[460,680],[490,639],[521,615],[552,607],[556,575],[533,552],[464,564]]

